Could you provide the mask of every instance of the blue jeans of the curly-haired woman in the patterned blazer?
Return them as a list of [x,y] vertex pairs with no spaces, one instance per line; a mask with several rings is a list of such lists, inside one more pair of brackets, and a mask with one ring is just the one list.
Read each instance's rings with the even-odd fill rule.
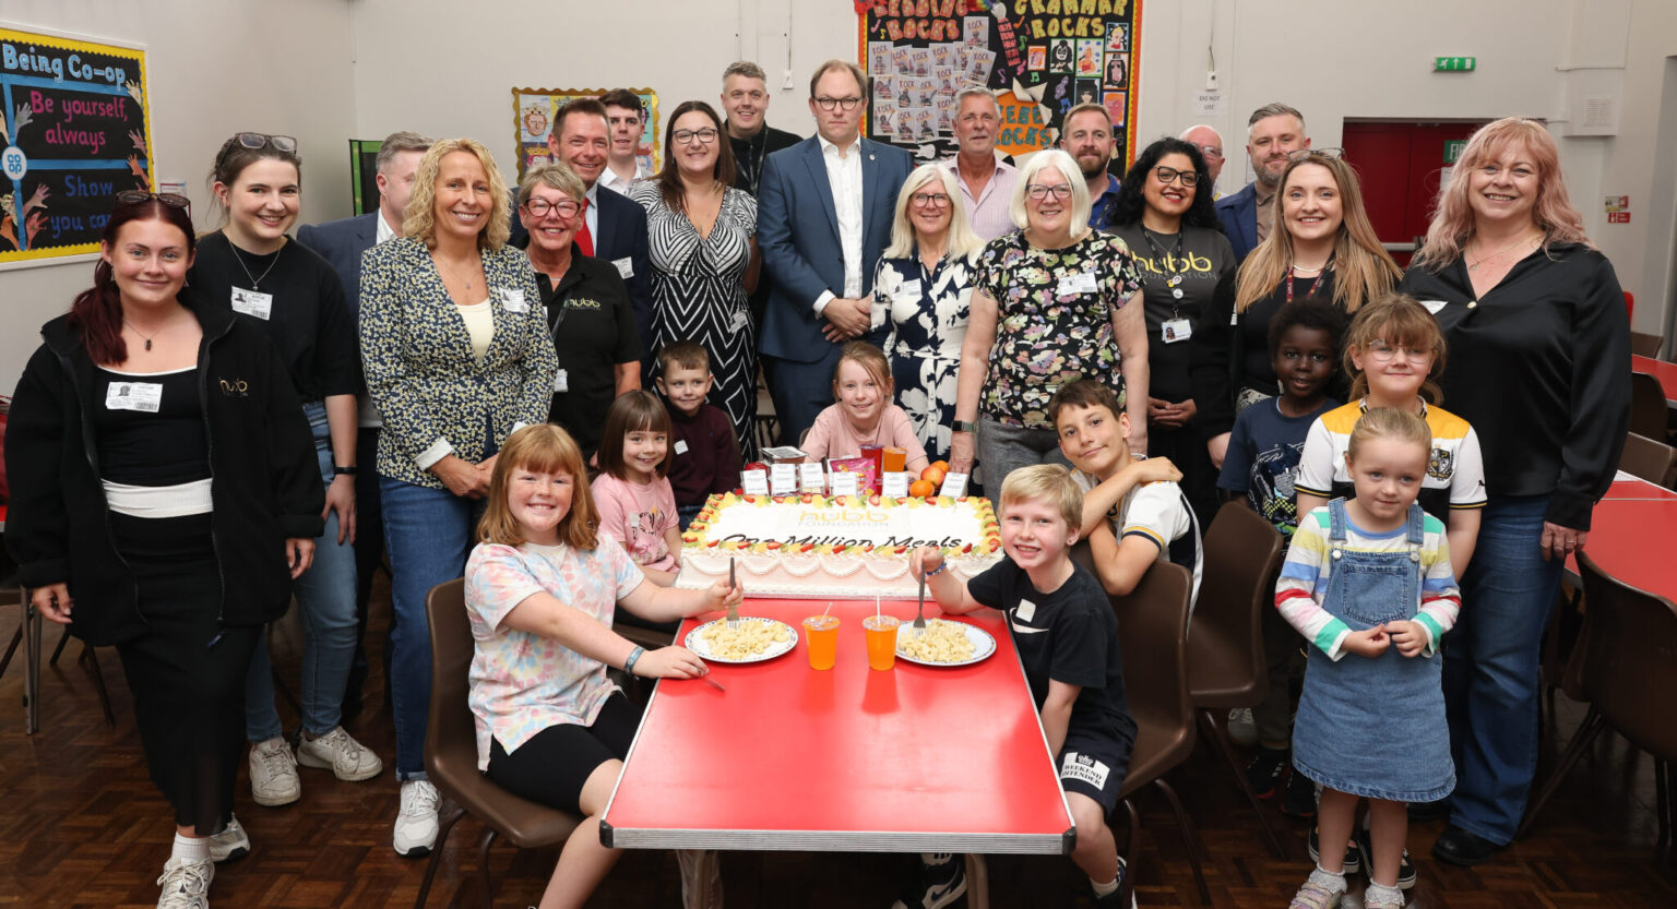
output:
[[466,572],[483,501],[448,490],[379,478],[384,545],[391,555],[391,706],[396,778],[424,780],[424,730],[431,709],[431,624],[424,599]]

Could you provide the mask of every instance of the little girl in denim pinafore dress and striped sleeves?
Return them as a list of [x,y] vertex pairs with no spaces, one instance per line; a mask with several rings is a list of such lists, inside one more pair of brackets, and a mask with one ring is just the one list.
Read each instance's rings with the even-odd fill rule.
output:
[[1370,820],[1363,906],[1404,906],[1407,803],[1456,787],[1436,654],[1461,594],[1444,525],[1415,503],[1432,446],[1415,414],[1363,414],[1345,453],[1355,498],[1305,515],[1281,565],[1275,605],[1311,644],[1293,766],[1321,785],[1321,854],[1293,909],[1330,909],[1345,894],[1360,798]]

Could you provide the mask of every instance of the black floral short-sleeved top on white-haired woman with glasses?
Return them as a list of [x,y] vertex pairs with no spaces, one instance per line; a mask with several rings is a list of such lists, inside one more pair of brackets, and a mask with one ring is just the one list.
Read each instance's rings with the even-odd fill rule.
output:
[[1060,386],[1088,376],[1124,387],[1112,317],[1142,287],[1124,240],[1097,230],[1063,250],[1040,250],[1025,231],[998,236],[973,285],[996,300],[984,419],[1053,429],[1048,399]]

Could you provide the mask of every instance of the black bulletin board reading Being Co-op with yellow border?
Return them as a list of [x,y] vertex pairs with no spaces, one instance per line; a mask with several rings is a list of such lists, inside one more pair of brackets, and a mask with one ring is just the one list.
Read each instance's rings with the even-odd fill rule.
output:
[[151,190],[146,52],[0,29],[0,265],[99,252]]

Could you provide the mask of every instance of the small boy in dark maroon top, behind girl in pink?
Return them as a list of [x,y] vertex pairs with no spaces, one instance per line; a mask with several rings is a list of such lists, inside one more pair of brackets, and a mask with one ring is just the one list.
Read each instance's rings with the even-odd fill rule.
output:
[[669,403],[669,486],[676,491],[681,528],[711,493],[740,485],[740,439],[721,408],[704,403],[711,392],[711,357],[696,340],[666,344],[657,352],[657,392]]

